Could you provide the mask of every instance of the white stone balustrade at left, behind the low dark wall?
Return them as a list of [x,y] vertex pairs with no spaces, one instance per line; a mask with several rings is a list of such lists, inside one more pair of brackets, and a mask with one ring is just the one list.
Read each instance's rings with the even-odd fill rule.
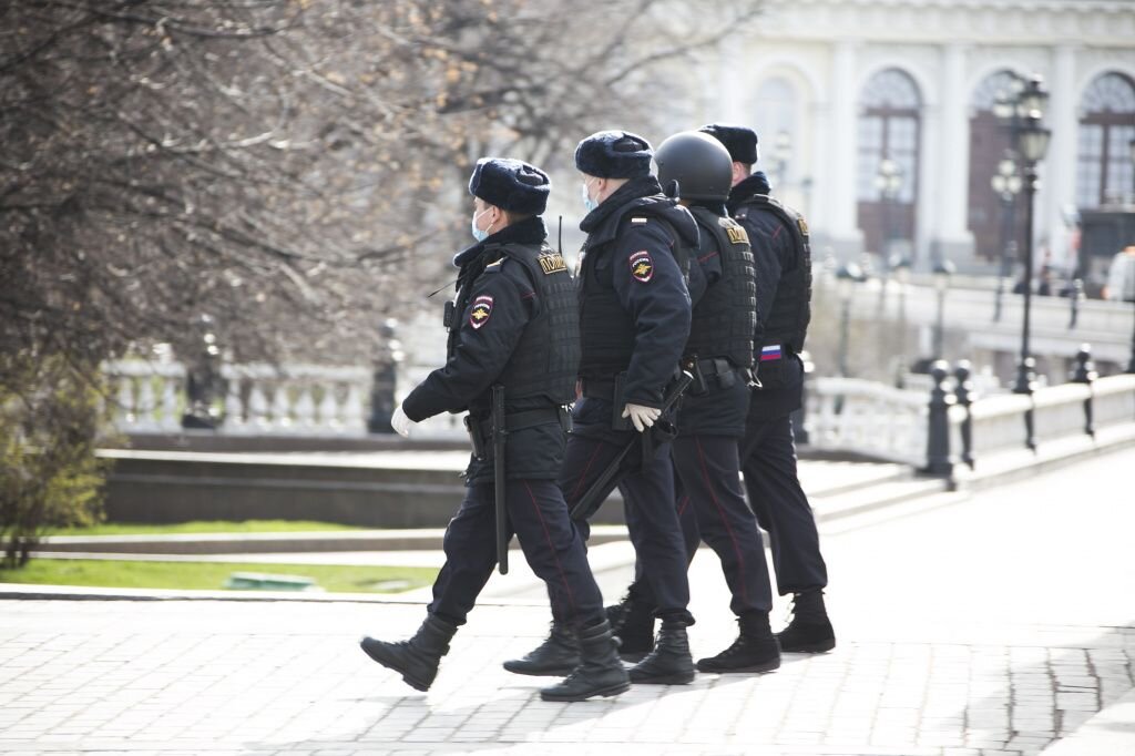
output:
[[[115,425],[123,432],[177,431],[185,412],[186,371],[178,362],[119,360],[103,364]],[[367,368],[226,364],[225,434],[364,435],[371,373]]]

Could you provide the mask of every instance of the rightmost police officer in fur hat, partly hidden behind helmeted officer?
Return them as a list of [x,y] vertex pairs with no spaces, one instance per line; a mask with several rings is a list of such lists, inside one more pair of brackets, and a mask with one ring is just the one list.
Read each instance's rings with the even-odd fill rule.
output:
[[792,621],[776,635],[784,652],[819,653],[835,647],[824,607],[827,568],[808,498],[800,487],[790,413],[804,388],[800,352],[812,317],[812,254],[808,226],[800,213],[770,196],[757,162],[757,135],[743,126],[701,127],[733,159],[730,215],[749,234],[757,268],[762,322],[755,341],[758,378],[753,390],[741,469],[749,504],[768,532],[776,586],[793,595]]

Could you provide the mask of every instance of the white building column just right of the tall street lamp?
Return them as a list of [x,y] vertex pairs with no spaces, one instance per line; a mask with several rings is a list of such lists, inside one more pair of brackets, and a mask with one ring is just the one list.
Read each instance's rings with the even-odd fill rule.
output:
[[[1065,225],[1066,209],[1076,207],[1076,148],[1079,138],[1078,103],[1076,91],[1076,49],[1060,45],[1052,51],[1052,81],[1049,82],[1048,126],[1052,141],[1044,162],[1041,163],[1043,182],[1037,198],[1034,232],[1037,242],[1048,237],[1052,262],[1066,267],[1074,264],[1070,229]],[[1040,244],[1034,251],[1040,254]],[[1040,260],[1036,261],[1040,263]],[[1036,268],[1040,270],[1040,268]]]

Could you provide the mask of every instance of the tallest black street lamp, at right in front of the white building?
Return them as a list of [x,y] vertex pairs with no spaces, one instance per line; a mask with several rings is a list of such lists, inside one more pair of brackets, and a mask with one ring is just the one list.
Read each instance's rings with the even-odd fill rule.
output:
[[[1034,76],[1020,89],[1012,102],[1014,107],[1007,124],[1014,146],[1020,156],[1025,169],[1022,184],[1025,199],[1025,243],[1022,250],[1025,263],[1025,314],[1020,328],[1020,359],[1017,363],[1017,381],[1012,392],[1027,396],[1032,396],[1036,383],[1034,372],[1036,363],[1028,343],[1033,304],[1033,201],[1039,183],[1036,163],[1044,158],[1044,153],[1049,149],[1049,137],[1052,135],[1052,132],[1045,128],[1043,123],[1048,96],[1042,79]],[[1002,112],[1007,111],[1002,109]],[[1032,409],[1025,413],[1025,445],[1035,451],[1036,439]]]

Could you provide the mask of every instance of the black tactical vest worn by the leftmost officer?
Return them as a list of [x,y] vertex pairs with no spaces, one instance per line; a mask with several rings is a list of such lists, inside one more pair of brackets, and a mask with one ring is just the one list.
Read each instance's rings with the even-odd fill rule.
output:
[[[501,251],[524,268],[539,310],[524,326],[512,356],[495,383],[505,387],[508,401],[546,396],[553,404],[569,404],[575,400],[580,356],[575,284],[563,258],[546,244],[504,244]],[[473,287],[465,288],[472,291]],[[457,312],[464,312],[468,296],[465,294],[465,301],[457,302]],[[452,335],[460,328],[461,322],[455,322],[451,331],[451,355],[456,346]]]

